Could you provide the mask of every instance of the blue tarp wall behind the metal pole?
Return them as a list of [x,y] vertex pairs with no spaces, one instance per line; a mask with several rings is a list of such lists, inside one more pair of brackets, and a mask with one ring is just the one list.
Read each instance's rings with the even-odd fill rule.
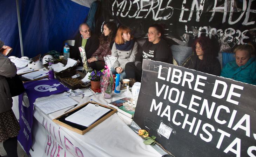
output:
[[[64,40],[73,39],[89,8],[70,0],[19,0],[24,55],[61,52]],[[1,0],[0,39],[21,57],[15,0]]]

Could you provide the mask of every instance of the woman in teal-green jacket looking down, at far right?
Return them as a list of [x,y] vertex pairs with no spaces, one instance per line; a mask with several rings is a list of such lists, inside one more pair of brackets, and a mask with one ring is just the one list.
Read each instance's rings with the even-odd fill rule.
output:
[[238,45],[234,52],[236,60],[228,62],[221,76],[256,85],[256,60],[251,45]]

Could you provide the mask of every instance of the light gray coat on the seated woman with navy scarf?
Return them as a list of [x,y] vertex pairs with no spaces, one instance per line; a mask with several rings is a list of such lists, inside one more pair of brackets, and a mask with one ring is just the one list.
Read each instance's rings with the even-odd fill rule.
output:
[[117,57],[117,60],[114,62],[112,66],[114,69],[117,67],[121,67],[124,72],[124,67],[128,62],[134,62],[135,55],[138,52],[138,43],[134,42],[133,48],[130,51],[121,51],[116,49],[116,44],[113,44],[111,50],[113,56]]

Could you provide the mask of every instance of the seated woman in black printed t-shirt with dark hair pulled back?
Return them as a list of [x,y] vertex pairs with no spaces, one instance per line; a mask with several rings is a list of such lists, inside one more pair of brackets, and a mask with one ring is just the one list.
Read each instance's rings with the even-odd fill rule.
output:
[[130,79],[130,86],[134,82],[141,82],[142,60],[150,59],[166,63],[173,63],[171,50],[168,44],[162,39],[163,28],[159,24],[153,24],[148,29],[148,41],[135,56],[135,62],[129,62],[125,66],[125,73]]

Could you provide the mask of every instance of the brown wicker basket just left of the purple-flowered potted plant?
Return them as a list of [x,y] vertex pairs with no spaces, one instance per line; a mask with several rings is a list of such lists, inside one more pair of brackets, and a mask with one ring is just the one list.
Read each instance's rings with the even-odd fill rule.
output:
[[84,73],[76,71],[76,74],[79,74],[80,76],[76,77],[76,78],[72,78],[71,76],[70,77],[60,77],[60,76],[56,75],[56,77],[60,80],[60,82],[62,82],[64,85],[66,85],[69,89],[72,89],[72,90],[86,88],[86,87],[90,86],[90,82],[84,83],[81,81],[85,77]]

